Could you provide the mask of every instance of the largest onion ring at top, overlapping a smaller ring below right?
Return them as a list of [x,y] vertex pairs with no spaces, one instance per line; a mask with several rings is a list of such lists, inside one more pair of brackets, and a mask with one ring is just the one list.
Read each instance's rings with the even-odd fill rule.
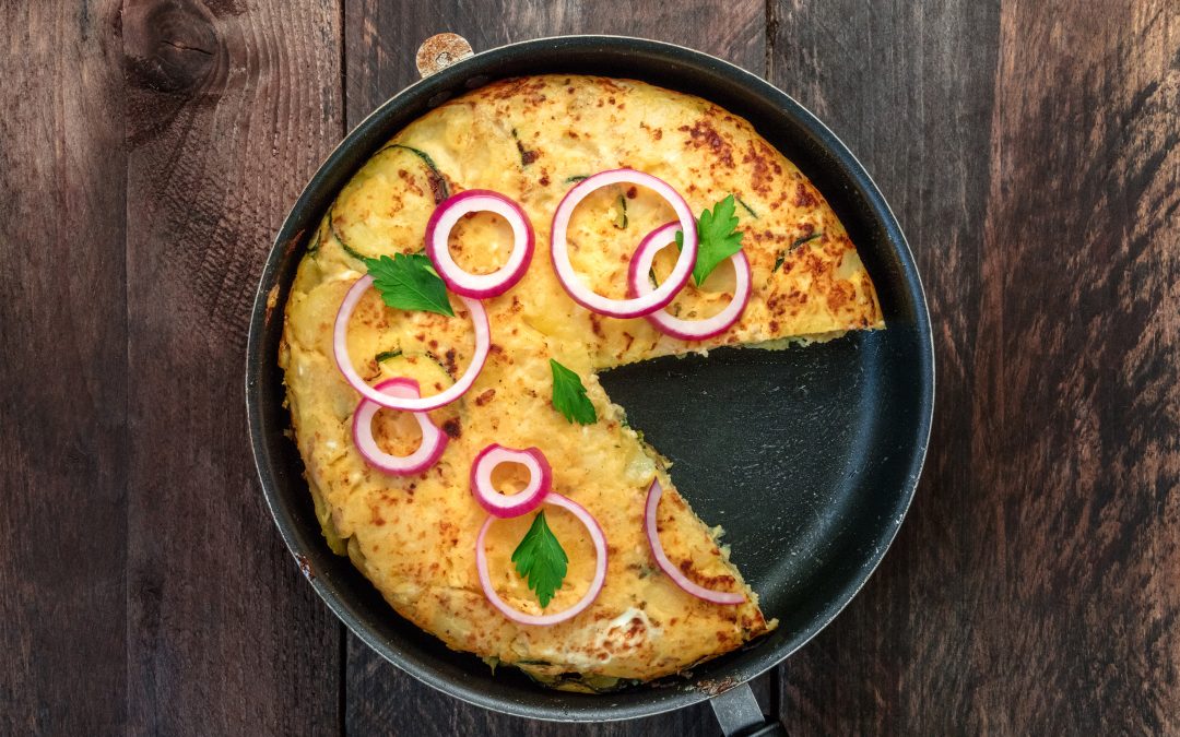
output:
[[[684,243],[680,252],[680,259],[673,268],[668,279],[650,294],[631,297],[629,300],[612,300],[596,294],[592,289],[582,283],[582,279],[573,271],[570,263],[569,243],[566,242],[570,226],[570,217],[573,209],[585,199],[590,192],[609,186],[611,184],[637,184],[656,192],[671,205],[680,221],[680,228],[684,231]],[[603,171],[592,177],[586,177],[565,193],[557,211],[553,213],[553,230],[550,236],[550,248],[552,249],[553,270],[562,287],[570,297],[595,312],[601,312],[609,317],[642,317],[667,305],[680,291],[680,288],[688,281],[693,272],[693,264],[696,263],[696,218],[688,208],[688,203],[667,182],[651,175],[635,171],[634,169],[615,169]]]

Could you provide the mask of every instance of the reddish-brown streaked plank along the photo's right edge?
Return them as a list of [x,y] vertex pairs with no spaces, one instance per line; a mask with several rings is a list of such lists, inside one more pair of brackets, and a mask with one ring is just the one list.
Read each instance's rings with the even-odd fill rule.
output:
[[1005,5],[995,88],[970,718],[1174,735],[1180,6]]

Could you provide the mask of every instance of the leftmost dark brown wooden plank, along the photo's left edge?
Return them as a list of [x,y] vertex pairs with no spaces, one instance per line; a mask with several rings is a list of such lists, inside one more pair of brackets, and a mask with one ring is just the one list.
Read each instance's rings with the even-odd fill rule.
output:
[[0,13],[0,733],[125,724],[118,0]]

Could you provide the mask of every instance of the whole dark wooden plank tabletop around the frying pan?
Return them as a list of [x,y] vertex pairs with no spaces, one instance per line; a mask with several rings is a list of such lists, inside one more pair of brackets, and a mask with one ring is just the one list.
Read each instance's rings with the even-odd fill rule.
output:
[[730,59],[897,210],[935,323],[917,500],[778,672],[795,735],[1180,732],[1180,5],[11,0],[0,11],[0,732],[712,735],[452,700],[345,632],[247,449],[247,314],[425,37]]

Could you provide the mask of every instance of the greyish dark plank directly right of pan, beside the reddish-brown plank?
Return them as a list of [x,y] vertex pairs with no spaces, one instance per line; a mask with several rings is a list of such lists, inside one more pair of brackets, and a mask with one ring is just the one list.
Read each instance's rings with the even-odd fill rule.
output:
[[793,733],[953,733],[970,689],[963,512],[986,215],[998,2],[776,2],[771,80],[867,167],[917,257],[938,373],[923,483],[857,599],[780,667]]

